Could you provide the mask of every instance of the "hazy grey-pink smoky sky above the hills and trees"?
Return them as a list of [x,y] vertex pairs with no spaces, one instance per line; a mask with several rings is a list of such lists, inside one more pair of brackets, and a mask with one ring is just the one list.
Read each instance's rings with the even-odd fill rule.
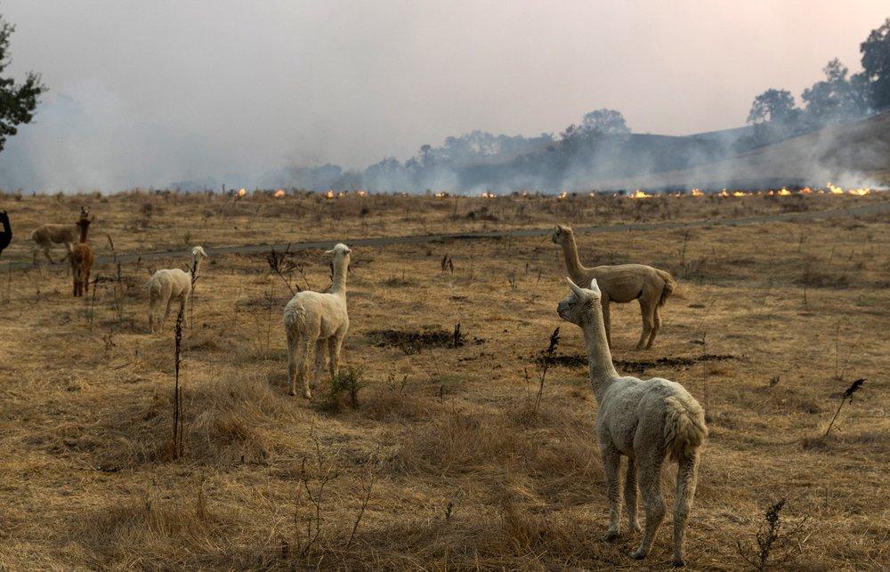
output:
[[[364,166],[481,129],[740,125],[890,16],[886,0],[6,0],[12,73],[51,89],[0,187],[121,189],[287,165]],[[232,181],[234,184],[237,182]]]

